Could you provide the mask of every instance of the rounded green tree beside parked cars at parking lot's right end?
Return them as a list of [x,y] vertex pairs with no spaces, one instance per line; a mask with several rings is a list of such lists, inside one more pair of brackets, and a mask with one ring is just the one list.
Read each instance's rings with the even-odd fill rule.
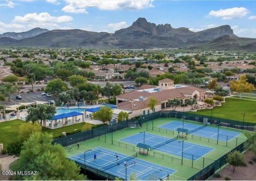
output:
[[61,79],[54,79],[47,83],[44,91],[57,96],[62,91],[66,90],[68,90],[68,85],[65,82],[63,82]]

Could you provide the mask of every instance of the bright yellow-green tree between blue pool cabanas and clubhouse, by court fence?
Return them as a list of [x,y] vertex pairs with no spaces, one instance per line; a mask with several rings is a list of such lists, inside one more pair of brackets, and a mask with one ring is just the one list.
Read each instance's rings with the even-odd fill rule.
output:
[[109,121],[113,116],[113,110],[108,106],[102,106],[100,107],[100,110],[93,113],[92,117],[93,119],[99,119],[102,120],[102,122],[105,124],[105,122]]

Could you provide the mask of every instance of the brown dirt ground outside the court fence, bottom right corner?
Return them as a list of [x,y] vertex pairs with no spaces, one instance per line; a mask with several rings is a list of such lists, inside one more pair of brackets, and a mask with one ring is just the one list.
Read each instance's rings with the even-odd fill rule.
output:
[[[236,168],[235,173],[233,173],[233,167],[227,166],[225,169],[221,170],[219,174],[220,178],[211,178],[211,180],[225,180],[225,177],[229,177],[231,180],[256,180],[256,162],[253,161],[253,153],[247,151],[244,154],[246,160],[246,167]],[[253,161],[253,165],[249,163]]]

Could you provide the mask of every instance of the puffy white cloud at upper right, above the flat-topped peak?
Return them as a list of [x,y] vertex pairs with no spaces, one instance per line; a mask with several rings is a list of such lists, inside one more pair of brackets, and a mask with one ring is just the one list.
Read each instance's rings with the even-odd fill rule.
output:
[[225,10],[212,10],[210,11],[209,16],[219,17],[222,18],[222,20],[233,20],[237,18],[243,18],[249,13],[250,11],[245,7],[233,7],[227,8]]

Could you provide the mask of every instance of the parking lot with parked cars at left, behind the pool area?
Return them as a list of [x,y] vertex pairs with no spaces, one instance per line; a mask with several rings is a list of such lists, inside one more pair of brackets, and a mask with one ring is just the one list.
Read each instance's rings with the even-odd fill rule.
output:
[[56,98],[53,97],[46,97],[46,96],[42,96],[43,92],[42,91],[38,91],[38,92],[28,92],[28,93],[20,93],[19,95],[22,97],[22,99],[16,99],[15,96],[17,94],[12,94],[11,96],[11,101],[10,102],[2,102],[5,105],[14,105],[15,102],[34,102],[35,100],[37,101],[49,101],[49,100],[56,100]]

